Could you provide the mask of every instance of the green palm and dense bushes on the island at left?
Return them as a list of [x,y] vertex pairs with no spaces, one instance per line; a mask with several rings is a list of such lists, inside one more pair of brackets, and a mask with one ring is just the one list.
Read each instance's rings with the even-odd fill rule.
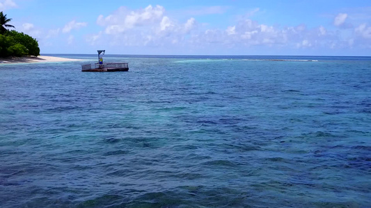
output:
[[40,55],[37,40],[24,33],[8,30],[8,28],[15,28],[8,24],[11,20],[0,12],[0,57]]

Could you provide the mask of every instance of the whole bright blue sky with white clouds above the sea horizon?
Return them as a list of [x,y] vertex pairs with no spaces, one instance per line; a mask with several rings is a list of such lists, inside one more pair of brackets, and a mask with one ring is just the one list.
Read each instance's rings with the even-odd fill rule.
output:
[[371,55],[371,0],[0,0],[40,53]]

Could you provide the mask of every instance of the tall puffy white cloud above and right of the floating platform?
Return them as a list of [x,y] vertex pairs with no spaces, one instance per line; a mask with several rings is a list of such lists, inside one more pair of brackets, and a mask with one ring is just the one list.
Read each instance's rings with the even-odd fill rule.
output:
[[120,7],[106,17],[97,17],[97,25],[104,28],[86,38],[90,44],[109,40],[113,45],[165,46],[187,44],[186,36],[196,30],[198,23],[194,17],[180,22],[167,16],[164,7],[149,5],[139,10]]

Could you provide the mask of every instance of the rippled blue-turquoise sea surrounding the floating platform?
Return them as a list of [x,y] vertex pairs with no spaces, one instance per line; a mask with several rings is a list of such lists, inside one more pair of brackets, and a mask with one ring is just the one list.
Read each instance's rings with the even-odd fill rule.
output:
[[370,57],[58,56],[0,65],[0,207],[370,207]]

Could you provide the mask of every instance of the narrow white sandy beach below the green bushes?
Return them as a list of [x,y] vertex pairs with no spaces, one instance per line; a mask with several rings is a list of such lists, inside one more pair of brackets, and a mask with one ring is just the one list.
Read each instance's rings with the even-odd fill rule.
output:
[[76,62],[82,59],[61,58],[56,56],[38,55],[36,56],[22,56],[0,58],[0,64],[22,64],[22,63],[39,63],[39,62]]

